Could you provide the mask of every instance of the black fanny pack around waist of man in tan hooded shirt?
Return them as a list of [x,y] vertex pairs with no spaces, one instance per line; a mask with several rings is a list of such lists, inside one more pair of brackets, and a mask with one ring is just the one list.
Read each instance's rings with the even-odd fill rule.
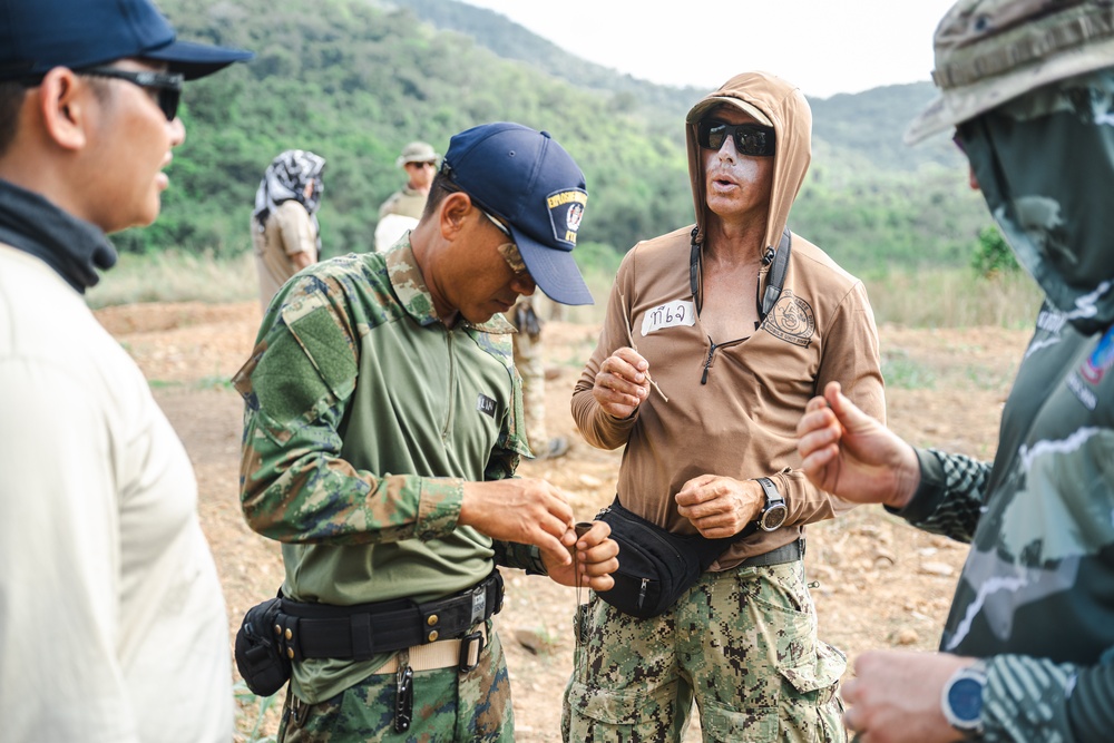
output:
[[598,592],[599,598],[642,619],[673,606],[732,542],[754,531],[749,525],[723,539],[673,534],[623,508],[618,498],[596,520],[612,527],[610,538],[619,546],[615,587]]

